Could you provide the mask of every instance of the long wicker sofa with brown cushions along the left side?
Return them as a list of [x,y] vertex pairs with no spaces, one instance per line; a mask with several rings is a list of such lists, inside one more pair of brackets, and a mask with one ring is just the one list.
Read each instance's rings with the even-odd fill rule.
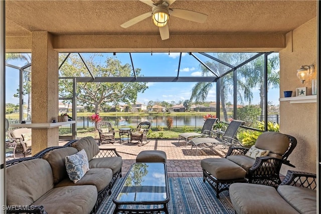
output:
[[[70,174],[81,173],[69,169],[69,160],[76,157],[77,164],[78,157],[86,156],[89,170],[72,181]],[[94,213],[121,176],[122,158],[115,149],[99,149],[94,138],[84,137],[32,157],[9,160],[6,165],[8,213],[22,209],[27,213]]]

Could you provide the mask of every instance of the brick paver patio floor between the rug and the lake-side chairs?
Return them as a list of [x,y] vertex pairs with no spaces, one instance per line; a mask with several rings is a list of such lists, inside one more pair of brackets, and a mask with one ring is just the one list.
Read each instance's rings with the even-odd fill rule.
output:
[[191,145],[186,146],[184,140],[177,139],[164,140],[153,139],[143,146],[137,143],[127,143],[119,141],[114,144],[103,144],[101,148],[116,148],[116,151],[123,159],[122,173],[126,174],[136,156],[143,150],[161,150],[167,155],[167,170],[169,177],[202,177],[201,160],[208,157],[224,157],[228,149],[223,147],[207,148],[196,154],[196,148],[191,149]]

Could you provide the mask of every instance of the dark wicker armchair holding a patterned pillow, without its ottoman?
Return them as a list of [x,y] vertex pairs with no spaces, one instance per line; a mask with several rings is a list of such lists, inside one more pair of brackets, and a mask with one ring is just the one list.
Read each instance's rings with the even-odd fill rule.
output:
[[[277,186],[282,164],[295,167],[287,160],[296,146],[293,136],[279,132],[264,132],[256,140],[254,147],[230,147],[226,158],[246,170],[249,183]],[[251,152],[252,150],[252,152]],[[266,151],[265,156],[262,152]]]

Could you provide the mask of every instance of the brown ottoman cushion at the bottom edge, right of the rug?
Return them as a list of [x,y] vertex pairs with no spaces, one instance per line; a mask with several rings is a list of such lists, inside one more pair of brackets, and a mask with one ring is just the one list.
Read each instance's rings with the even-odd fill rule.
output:
[[[232,183],[230,198],[236,213],[295,214],[297,212],[272,186],[252,183]],[[244,198],[250,198],[244,200]]]

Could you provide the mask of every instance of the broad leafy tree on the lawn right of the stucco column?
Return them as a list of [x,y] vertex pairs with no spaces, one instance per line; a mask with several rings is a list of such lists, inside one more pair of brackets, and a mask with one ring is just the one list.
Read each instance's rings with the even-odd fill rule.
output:
[[[101,54],[91,54],[87,59],[87,65],[95,77],[126,77],[133,76],[129,64],[122,65],[116,57],[106,58],[100,64]],[[98,60],[97,60],[98,58]],[[63,60],[61,56],[60,61]],[[140,69],[136,69],[136,76],[140,76]],[[71,54],[64,65],[60,68],[61,77],[88,76],[88,71],[82,60],[76,55]],[[72,84],[70,80],[61,79],[59,81],[59,95],[62,97],[72,96]],[[80,105],[93,105],[95,113],[99,114],[101,105],[113,103],[136,102],[137,93],[143,93],[147,89],[146,83],[138,82],[87,82],[77,83],[77,101]]]

